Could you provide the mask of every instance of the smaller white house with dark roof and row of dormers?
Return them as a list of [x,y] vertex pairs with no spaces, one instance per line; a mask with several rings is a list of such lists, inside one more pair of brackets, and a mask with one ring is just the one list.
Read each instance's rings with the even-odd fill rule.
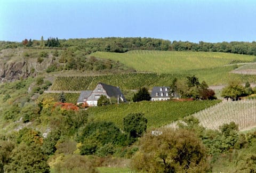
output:
[[169,92],[170,92],[170,87],[165,87],[165,86],[154,87],[150,95],[151,101],[170,100],[171,96]]

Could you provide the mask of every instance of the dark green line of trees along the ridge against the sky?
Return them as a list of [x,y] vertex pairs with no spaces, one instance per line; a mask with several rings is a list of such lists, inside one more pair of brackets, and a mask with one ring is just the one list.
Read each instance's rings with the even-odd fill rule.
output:
[[50,37],[44,40],[24,39],[19,42],[0,42],[0,50],[17,47],[77,47],[87,54],[96,51],[124,53],[131,50],[156,50],[156,51],[195,51],[195,52],[225,52],[235,54],[256,55],[256,42],[182,42],[147,37],[106,37],[83,39],[58,39]]

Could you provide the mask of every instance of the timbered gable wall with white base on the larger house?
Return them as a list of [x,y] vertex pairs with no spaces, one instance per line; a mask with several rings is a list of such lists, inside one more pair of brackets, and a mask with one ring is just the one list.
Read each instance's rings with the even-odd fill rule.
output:
[[101,95],[106,95],[107,98],[110,98],[102,85],[98,84],[92,91],[92,94],[87,98],[86,103],[88,103],[89,106],[97,106],[98,99]]

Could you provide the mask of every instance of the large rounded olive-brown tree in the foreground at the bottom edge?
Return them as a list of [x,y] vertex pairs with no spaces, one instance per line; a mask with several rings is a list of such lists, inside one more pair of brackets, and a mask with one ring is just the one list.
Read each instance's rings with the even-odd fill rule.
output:
[[161,129],[148,132],[140,140],[140,149],[132,159],[132,167],[146,172],[206,172],[205,147],[197,136],[185,129]]

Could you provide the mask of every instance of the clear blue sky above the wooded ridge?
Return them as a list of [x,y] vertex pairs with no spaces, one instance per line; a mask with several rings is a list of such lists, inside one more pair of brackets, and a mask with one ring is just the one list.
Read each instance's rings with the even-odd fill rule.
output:
[[152,37],[256,40],[255,0],[0,0],[0,40]]

